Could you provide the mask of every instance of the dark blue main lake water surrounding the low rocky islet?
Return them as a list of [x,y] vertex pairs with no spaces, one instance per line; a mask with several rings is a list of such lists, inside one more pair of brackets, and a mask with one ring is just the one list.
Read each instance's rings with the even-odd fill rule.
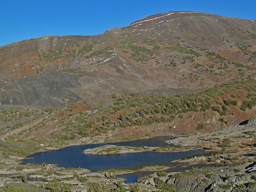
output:
[[[164,141],[172,139],[171,137],[154,137],[150,139],[141,139],[135,141],[118,142],[114,145],[120,146],[166,146]],[[204,150],[192,150],[187,152],[174,153],[156,153],[156,152],[140,152],[129,154],[115,155],[85,155],[83,150],[95,148],[104,144],[90,144],[82,146],[70,146],[54,151],[35,153],[25,159],[22,164],[57,164],[59,167],[86,168],[93,172],[98,170],[116,169],[140,169],[149,165],[169,165],[175,159],[198,156],[199,154],[207,154]]]

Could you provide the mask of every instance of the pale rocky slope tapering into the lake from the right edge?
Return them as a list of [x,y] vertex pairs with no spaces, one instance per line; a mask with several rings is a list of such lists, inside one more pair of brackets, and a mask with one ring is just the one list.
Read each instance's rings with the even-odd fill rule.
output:
[[167,144],[182,147],[204,148],[220,152],[255,152],[256,118],[246,125],[224,128],[211,134],[197,134],[165,141]]

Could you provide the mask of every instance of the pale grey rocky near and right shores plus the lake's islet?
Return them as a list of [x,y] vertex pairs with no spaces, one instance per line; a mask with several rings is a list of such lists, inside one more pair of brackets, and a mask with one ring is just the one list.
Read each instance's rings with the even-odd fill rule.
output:
[[[189,159],[172,161],[172,166],[151,166],[139,170],[109,169],[93,173],[88,169],[61,168],[53,164],[27,164],[20,165],[22,159],[17,156],[1,158],[0,187],[36,189],[43,192],[49,189],[51,183],[59,186],[69,186],[69,191],[87,191],[91,185],[99,185],[108,190],[124,191],[236,191],[256,189],[256,155],[255,155],[255,123],[252,118],[246,125],[229,127],[215,131],[211,134],[198,134],[187,137],[178,137],[166,141],[175,145],[175,149],[186,151],[194,148],[203,148],[211,151],[211,156],[199,156]],[[133,153],[141,151],[175,151],[174,147],[127,147],[104,145],[95,149],[87,149],[85,154],[114,154]],[[3,154],[2,154],[3,155]],[[205,167],[197,168],[196,165]],[[218,167],[209,167],[208,164],[218,164]],[[192,170],[183,172],[165,172],[176,166],[194,166]],[[134,184],[125,184],[124,178],[116,175],[131,174],[135,172],[153,171],[155,173],[139,178]],[[17,177],[17,178],[15,178]],[[19,177],[22,177],[19,179]],[[27,178],[41,179],[42,181],[28,181]],[[98,187],[99,187],[98,186]],[[162,188],[161,188],[162,187]]]

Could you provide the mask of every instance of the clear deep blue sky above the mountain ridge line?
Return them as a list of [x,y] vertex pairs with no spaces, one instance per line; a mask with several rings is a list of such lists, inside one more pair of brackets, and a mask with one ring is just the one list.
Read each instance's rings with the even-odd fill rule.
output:
[[1,0],[0,46],[48,35],[98,35],[169,11],[256,20],[256,0]]

